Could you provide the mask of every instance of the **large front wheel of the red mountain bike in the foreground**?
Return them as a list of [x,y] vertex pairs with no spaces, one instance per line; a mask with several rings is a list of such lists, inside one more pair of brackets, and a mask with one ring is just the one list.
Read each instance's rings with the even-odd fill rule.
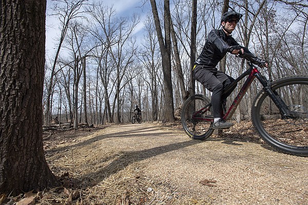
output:
[[262,139],[280,152],[308,156],[308,76],[288,76],[272,83],[292,117],[283,118],[273,100],[262,90],[252,107],[253,124]]

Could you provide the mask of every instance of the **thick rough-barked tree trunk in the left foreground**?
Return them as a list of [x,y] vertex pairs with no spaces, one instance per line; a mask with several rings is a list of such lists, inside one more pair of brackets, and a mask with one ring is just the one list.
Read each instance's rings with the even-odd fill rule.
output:
[[46,1],[0,2],[0,192],[56,184],[43,150]]

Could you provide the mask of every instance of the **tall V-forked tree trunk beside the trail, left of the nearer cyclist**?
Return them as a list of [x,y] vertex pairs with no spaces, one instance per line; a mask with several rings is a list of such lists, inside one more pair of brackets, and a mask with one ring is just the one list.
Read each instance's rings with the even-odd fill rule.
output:
[[159,47],[162,55],[162,67],[164,75],[164,118],[163,122],[174,122],[174,102],[172,93],[171,80],[171,36],[170,36],[170,9],[169,0],[164,0],[164,25],[165,25],[165,40],[160,26],[160,20],[155,0],[150,0],[154,23],[159,41]]

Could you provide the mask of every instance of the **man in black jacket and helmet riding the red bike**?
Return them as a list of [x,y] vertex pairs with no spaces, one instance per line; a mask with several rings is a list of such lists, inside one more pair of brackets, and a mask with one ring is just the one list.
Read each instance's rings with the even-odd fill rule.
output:
[[[245,47],[240,46],[236,40],[230,35],[235,30],[242,14],[235,11],[228,11],[222,15],[222,29],[213,29],[209,32],[205,45],[193,68],[195,79],[198,80],[206,89],[212,92],[211,105],[213,107],[214,129],[223,129],[233,126],[232,122],[226,122],[221,116],[221,105],[226,103],[227,97],[232,93],[237,85],[229,92],[222,95],[235,79],[231,76],[219,71],[216,66],[227,52],[232,54],[251,54]],[[266,61],[254,57],[258,65],[267,67]]]

